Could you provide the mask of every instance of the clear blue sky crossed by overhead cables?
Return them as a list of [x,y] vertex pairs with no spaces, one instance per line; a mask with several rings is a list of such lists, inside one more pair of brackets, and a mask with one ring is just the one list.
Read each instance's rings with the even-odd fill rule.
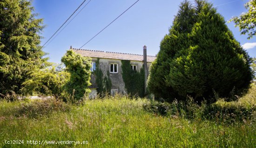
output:
[[[41,36],[43,45],[65,22],[83,0],[34,0],[33,6],[38,18],[44,19]],[[87,0],[84,5],[88,2]],[[61,62],[61,57],[72,45],[80,48],[90,38],[119,16],[136,0],[91,0],[88,5],[54,38],[43,50],[50,62]],[[194,2],[193,0],[192,3]],[[140,0],[112,25],[101,32],[82,49],[103,50],[143,54],[146,45],[148,55],[155,56],[160,50],[160,42],[172,25],[182,0]],[[248,0],[209,0],[225,20],[246,12],[244,4]],[[84,6],[83,5],[83,6]],[[82,6],[82,7],[83,7]],[[81,7],[81,8],[82,8]],[[236,40],[252,57],[256,56],[256,37],[247,39],[240,35],[234,23],[227,23]]]

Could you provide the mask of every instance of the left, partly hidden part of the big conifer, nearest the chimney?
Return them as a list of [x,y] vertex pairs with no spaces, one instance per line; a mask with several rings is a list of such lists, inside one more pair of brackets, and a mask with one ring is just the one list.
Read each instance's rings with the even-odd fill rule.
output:
[[155,97],[171,99],[178,96],[172,86],[167,86],[165,76],[170,71],[170,61],[182,48],[188,48],[188,33],[195,23],[195,9],[188,0],[180,5],[180,9],[175,16],[169,34],[165,35],[160,43],[160,51],[156,60],[150,66],[148,76],[148,89]]

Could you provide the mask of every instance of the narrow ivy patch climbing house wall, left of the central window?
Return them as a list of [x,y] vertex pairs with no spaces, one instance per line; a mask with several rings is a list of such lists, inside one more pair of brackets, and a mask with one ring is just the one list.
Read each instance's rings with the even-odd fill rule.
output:
[[95,76],[96,76],[96,84],[97,84],[97,93],[101,96],[104,97],[105,93],[107,92],[108,94],[111,93],[111,88],[112,88],[112,82],[111,79],[109,77],[109,71],[107,73],[107,75],[104,77],[103,79],[103,72],[100,68],[100,59],[97,58],[96,61],[96,69],[94,72]]

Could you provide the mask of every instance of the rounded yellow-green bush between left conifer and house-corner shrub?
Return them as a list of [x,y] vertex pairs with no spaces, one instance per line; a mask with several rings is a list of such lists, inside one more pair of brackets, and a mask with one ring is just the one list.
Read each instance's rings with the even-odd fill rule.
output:
[[69,80],[70,74],[64,69],[51,68],[40,69],[31,74],[31,79],[22,83],[21,92],[23,94],[33,95],[53,95],[56,98],[61,97],[63,86]]

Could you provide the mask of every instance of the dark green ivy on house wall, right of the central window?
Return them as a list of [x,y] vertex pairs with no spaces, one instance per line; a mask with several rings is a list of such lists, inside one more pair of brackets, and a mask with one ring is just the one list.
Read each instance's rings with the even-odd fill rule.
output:
[[140,72],[136,72],[131,69],[131,63],[129,60],[121,60],[122,68],[122,78],[125,84],[127,93],[131,95],[137,95],[139,97],[144,97],[144,65]]

